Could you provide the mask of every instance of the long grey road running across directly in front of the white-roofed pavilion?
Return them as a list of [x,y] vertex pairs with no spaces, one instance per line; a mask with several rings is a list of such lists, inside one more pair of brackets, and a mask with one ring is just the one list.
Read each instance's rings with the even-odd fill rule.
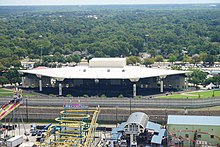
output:
[[[4,104],[10,98],[0,98]],[[202,108],[220,106],[220,98],[209,99],[129,99],[129,98],[64,98],[64,97],[32,97],[27,99],[28,106],[63,106],[71,103],[90,107],[135,107],[135,108]],[[23,105],[26,105],[24,98]]]

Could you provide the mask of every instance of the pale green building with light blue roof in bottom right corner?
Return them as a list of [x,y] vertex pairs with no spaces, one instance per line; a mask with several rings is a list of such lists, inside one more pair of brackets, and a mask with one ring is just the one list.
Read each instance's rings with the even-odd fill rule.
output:
[[178,146],[219,146],[219,116],[168,115],[170,145]]

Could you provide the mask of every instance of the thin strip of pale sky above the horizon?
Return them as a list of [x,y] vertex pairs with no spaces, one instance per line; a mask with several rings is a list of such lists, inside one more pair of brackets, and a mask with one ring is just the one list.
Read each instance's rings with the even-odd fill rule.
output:
[[0,5],[192,4],[220,0],[0,0]]

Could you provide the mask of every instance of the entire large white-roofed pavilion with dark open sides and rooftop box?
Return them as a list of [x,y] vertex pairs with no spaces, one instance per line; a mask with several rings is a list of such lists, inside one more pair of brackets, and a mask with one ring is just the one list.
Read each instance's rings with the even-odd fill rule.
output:
[[129,97],[184,90],[189,73],[127,66],[126,58],[93,58],[85,66],[19,72],[24,87],[35,87],[48,94]]

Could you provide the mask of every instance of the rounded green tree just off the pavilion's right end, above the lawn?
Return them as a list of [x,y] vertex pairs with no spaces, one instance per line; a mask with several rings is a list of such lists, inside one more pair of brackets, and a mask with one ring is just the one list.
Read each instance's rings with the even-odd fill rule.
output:
[[189,76],[189,82],[195,84],[196,86],[198,84],[203,84],[207,73],[203,72],[200,69],[190,69],[192,71],[192,74]]

